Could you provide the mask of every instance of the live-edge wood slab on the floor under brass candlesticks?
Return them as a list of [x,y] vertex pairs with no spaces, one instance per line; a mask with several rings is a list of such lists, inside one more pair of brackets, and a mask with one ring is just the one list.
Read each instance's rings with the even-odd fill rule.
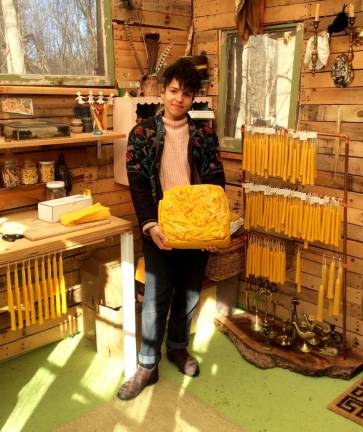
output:
[[[329,376],[350,379],[363,369],[363,354],[351,349],[343,356],[323,356],[316,352],[302,353],[276,345],[270,350],[263,346],[263,336],[250,328],[251,316],[217,317],[217,328],[234,343],[244,359],[262,369],[281,367],[309,376]],[[258,340],[259,339],[259,340]]]

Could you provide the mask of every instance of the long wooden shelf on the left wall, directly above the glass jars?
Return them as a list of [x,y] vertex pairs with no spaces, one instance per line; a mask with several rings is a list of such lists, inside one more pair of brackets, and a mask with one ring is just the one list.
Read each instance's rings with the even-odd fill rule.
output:
[[53,146],[53,145],[68,145],[76,143],[88,142],[103,142],[108,140],[126,138],[125,134],[114,131],[105,131],[102,135],[93,135],[92,133],[71,134],[69,137],[60,138],[42,138],[33,140],[11,140],[5,141],[0,138],[0,150],[10,150],[13,148],[27,148],[39,146]]

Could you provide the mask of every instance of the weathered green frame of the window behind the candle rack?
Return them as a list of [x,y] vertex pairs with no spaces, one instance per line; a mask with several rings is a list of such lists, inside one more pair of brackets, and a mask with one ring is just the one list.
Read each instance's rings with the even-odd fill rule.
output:
[[[267,25],[264,27],[264,33],[276,30],[296,30],[296,43],[294,51],[294,62],[292,70],[292,84],[290,95],[290,109],[288,127],[296,128],[298,122],[298,104],[301,79],[301,56],[304,42],[304,27],[301,22],[292,22],[286,24]],[[218,91],[218,114],[217,114],[217,135],[219,138],[221,150],[231,153],[242,153],[242,141],[240,138],[224,136],[224,127],[226,119],[227,103],[227,69],[228,69],[228,39],[236,35],[236,29],[221,30],[220,32],[220,63],[219,63],[219,91]]]

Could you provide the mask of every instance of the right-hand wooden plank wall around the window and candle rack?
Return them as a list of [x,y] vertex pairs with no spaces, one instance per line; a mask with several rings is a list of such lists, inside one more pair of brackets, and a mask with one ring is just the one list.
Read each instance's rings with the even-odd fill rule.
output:
[[[316,3],[320,3],[320,29],[326,29],[335,15],[342,10],[344,0],[267,0],[265,11],[266,24],[283,22],[304,22],[305,43],[312,34],[312,19],[315,14]],[[363,2],[355,0],[356,24],[363,24]],[[194,23],[196,30],[195,48],[207,47],[207,52],[216,55],[218,64],[218,47],[220,31],[233,28],[234,0],[194,0]],[[344,33],[336,34],[331,39],[331,55],[328,65],[319,71],[315,77],[304,66],[301,72],[300,101],[299,101],[299,129],[317,132],[332,132],[337,130],[348,134],[351,139],[349,153],[349,209],[348,209],[348,339],[351,343],[363,349],[363,46],[355,46],[353,65],[355,79],[346,89],[335,88],[330,78],[330,66],[337,54],[347,52],[348,36]],[[303,59],[301,59],[303,61]],[[212,94],[218,97],[218,87]],[[338,118],[340,116],[340,128]],[[343,151],[334,172],[335,156],[334,141],[319,140],[318,143],[318,176],[317,185],[306,187],[306,191],[314,191],[322,195],[342,198],[343,188]],[[235,205],[238,204],[238,191],[241,183],[241,161],[238,158],[227,158],[224,155],[225,169],[229,186],[229,194],[233,191]],[[233,189],[231,189],[233,188]],[[322,253],[334,253],[311,247]],[[289,281],[293,281],[294,262],[289,259]],[[300,312],[314,313],[316,309],[317,290],[320,284],[321,256],[312,252],[304,253],[302,263],[303,291],[301,294]],[[278,315],[289,315],[291,285],[287,285],[281,295],[281,307]],[[244,301],[244,287],[241,284],[240,301]],[[341,326],[341,319],[330,319],[332,323]]]

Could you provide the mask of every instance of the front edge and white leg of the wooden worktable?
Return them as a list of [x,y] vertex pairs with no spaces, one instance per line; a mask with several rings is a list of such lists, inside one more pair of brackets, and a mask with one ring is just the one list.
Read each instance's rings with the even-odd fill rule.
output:
[[[17,216],[16,219],[19,220],[19,214],[14,213],[15,215]],[[12,215],[7,216],[11,220]],[[129,378],[136,371],[134,242],[131,222],[111,217],[110,223],[42,240],[30,241],[23,238],[13,243],[0,240],[0,267],[48,253],[68,251],[101,243],[114,235],[120,235],[121,241],[120,287],[123,291],[124,371],[125,377]]]

